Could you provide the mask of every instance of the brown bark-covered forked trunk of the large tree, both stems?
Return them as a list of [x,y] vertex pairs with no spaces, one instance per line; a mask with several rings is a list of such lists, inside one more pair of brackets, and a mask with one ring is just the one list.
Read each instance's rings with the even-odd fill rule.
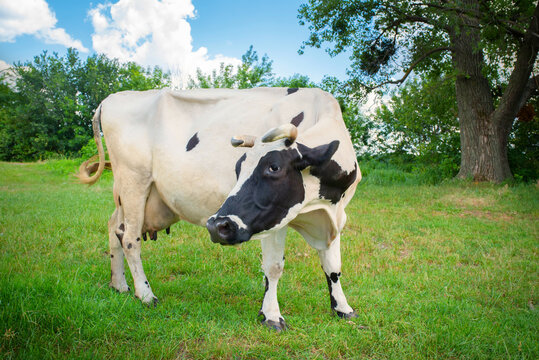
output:
[[[464,2],[472,9],[477,6],[475,0]],[[482,73],[485,63],[479,45],[479,23],[466,15],[460,15],[460,20],[459,28],[450,32],[461,140],[457,177],[499,183],[512,178],[508,138],[537,56],[537,46],[533,46],[537,41],[533,36],[523,41],[508,86],[495,109],[489,82]],[[537,9],[528,34],[533,34],[534,29],[536,32],[536,28]]]

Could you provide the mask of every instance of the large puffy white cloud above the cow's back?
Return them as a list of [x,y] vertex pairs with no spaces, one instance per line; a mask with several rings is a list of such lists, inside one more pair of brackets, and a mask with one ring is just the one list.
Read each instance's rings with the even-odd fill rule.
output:
[[210,72],[221,62],[240,64],[236,58],[208,56],[193,49],[191,26],[195,17],[191,0],[119,0],[99,4],[89,11],[98,53],[145,66],[159,65],[173,74],[176,86],[185,84],[196,69]]

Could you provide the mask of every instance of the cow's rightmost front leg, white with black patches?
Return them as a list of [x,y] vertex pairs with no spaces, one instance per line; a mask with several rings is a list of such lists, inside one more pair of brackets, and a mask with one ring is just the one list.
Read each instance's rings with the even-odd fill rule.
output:
[[349,319],[357,317],[354,309],[346,302],[346,297],[341,287],[341,237],[340,235],[333,240],[329,249],[318,250],[318,256],[322,269],[326,274],[329,287],[329,297],[331,300],[331,309],[341,318]]

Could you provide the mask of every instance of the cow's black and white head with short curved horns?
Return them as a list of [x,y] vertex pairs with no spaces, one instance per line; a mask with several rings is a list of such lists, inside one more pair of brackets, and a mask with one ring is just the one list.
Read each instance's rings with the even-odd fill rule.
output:
[[232,138],[232,145],[250,149],[236,164],[236,186],[206,224],[213,242],[238,244],[280,229],[310,201],[304,184],[304,176],[309,175],[303,170],[327,163],[339,141],[309,148],[297,144],[296,136],[297,128],[286,124],[259,140]]

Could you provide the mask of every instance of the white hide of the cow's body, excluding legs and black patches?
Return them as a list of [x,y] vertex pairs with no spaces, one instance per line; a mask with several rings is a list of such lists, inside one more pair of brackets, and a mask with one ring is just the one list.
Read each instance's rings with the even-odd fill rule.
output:
[[[284,149],[284,140],[261,143],[260,136],[301,112],[304,119],[296,142],[316,147],[339,140],[332,159],[352,171],[355,152],[339,104],[319,89],[299,89],[290,95],[285,88],[127,91],[103,101],[101,125],[115,177],[125,179],[123,172],[149,177],[179,219],[205,225],[263,154]],[[186,151],[195,134],[198,144]],[[233,136],[243,134],[258,137],[253,148],[230,145]],[[244,153],[246,171],[237,181],[235,165]],[[359,176],[345,197],[332,205],[318,198],[319,181],[308,170],[302,172],[305,201],[276,228],[291,222],[312,246],[327,249],[344,226],[344,207],[361,176],[358,168]]]

